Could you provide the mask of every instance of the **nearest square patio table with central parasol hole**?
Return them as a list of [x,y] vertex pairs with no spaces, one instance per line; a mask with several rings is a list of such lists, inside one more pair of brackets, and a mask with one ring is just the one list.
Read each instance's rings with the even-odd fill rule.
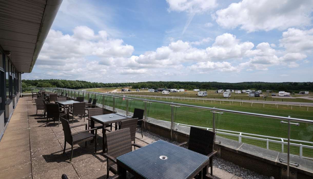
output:
[[[167,159],[161,159],[161,156],[166,156]],[[203,176],[206,175],[209,164],[208,156],[162,140],[116,159],[118,173],[122,178],[126,178],[126,171],[129,171],[136,178],[189,179],[200,171],[203,171]]]

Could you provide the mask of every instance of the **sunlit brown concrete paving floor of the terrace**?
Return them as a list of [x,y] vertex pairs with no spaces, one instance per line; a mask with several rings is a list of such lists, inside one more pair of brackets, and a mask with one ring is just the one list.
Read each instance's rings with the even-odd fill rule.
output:
[[[70,145],[65,154],[64,133],[62,125],[51,120],[46,127],[43,110],[36,116],[35,101],[23,97],[18,101],[8,127],[0,141],[0,174],[1,178],[61,178],[66,174],[72,178],[106,178],[106,159],[102,155],[102,133],[98,131],[97,153],[90,141],[74,145],[72,163],[69,163]],[[74,124],[83,124],[84,120],[74,119]],[[85,120],[88,122],[88,120]],[[114,128],[114,127],[113,127]],[[72,129],[72,132],[85,130],[85,126]],[[154,142],[136,133],[136,143],[142,146]],[[213,173],[219,178],[239,178],[218,168]],[[113,175],[110,173],[110,175]]]

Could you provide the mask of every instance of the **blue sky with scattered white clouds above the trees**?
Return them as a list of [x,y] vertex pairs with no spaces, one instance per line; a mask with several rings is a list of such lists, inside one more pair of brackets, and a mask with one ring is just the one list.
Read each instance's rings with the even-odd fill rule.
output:
[[312,0],[63,0],[23,79],[312,82]]

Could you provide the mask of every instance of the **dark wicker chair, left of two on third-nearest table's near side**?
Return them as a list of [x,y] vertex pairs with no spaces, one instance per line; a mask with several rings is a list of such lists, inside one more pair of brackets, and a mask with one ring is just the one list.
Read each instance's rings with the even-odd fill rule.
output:
[[67,116],[69,108],[66,108],[64,110],[60,110],[58,104],[47,104],[47,124],[48,125],[49,119],[53,118],[53,123],[55,120],[59,120],[58,127],[60,125],[60,118],[63,116]]

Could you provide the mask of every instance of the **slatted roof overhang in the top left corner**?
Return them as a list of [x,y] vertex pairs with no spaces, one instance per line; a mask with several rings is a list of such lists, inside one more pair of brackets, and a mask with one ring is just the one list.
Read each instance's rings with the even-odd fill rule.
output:
[[0,2],[0,46],[19,72],[30,73],[62,0]]

